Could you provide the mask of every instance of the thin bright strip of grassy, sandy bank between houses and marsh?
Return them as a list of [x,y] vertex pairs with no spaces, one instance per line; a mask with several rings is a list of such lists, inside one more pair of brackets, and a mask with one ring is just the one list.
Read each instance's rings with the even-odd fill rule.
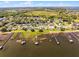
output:
[[49,30],[45,30],[44,32],[38,32],[38,31],[35,31],[35,32],[31,32],[31,31],[24,31],[24,30],[15,30],[15,31],[11,31],[11,32],[0,32],[0,34],[7,34],[7,33],[18,33],[18,32],[26,32],[26,33],[60,33],[60,32],[63,32],[63,33],[66,33],[66,32],[79,32],[79,30],[67,30],[67,31],[49,31]]

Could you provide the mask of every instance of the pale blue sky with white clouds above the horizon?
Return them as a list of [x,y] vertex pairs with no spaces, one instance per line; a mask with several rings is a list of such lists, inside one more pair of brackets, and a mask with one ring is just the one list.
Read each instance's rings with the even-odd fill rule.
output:
[[0,7],[64,7],[79,6],[79,1],[0,1]]

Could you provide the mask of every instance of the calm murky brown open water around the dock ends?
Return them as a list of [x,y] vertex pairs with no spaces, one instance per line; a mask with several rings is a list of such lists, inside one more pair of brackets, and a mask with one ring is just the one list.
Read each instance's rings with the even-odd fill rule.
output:
[[[47,36],[46,36],[47,37]],[[79,41],[72,37],[74,43],[70,43],[63,34],[57,36],[60,45],[52,41],[44,40],[39,45],[28,41],[26,45],[16,43],[16,40],[9,40],[3,50],[0,50],[1,57],[79,57]],[[4,41],[0,42],[0,45]]]

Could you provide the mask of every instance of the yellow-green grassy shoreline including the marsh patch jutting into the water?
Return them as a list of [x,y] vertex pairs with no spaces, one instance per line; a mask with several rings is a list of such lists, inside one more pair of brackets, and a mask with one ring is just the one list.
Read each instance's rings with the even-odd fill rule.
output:
[[24,30],[16,30],[16,31],[11,31],[11,32],[0,32],[0,34],[3,35],[7,35],[8,33],[14,33],[12,38],[14,39],[15,37],[17,37],[18,33],[21,33],[21,36],[23,39],[29,41],[32,40],[33,42],[35,42],[35,37],[36,36],[40,36],[40,35],[45,35],[45,34],[57,34],[57,33],[69,33],[69,32],[79,32],[79,30],[67,30],[67,31],[49,31],[49,30],[44,30],[43,32],[39,32],[39,31],[35,31],[35,32],[31,32],[31,31],[24,31]]

